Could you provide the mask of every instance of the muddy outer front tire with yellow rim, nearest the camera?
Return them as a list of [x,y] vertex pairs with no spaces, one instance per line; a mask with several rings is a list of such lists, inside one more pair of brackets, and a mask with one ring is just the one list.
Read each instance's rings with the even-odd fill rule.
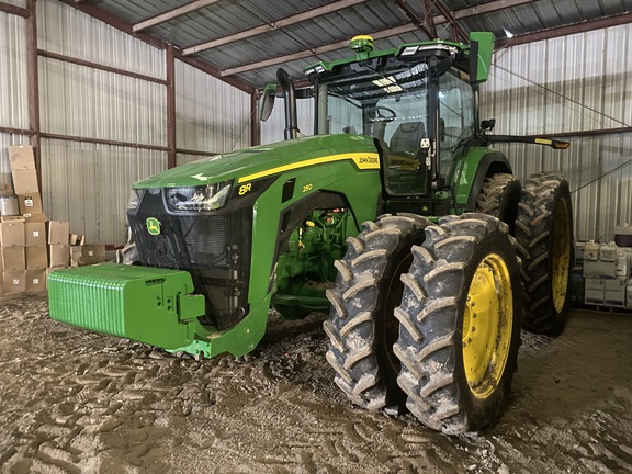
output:
[[477,430],[500,415],[516,371],[522,318],[516,240],[503,222],[470,213],[426,227],[413,253],[395,309],[406,406],[447,435]]

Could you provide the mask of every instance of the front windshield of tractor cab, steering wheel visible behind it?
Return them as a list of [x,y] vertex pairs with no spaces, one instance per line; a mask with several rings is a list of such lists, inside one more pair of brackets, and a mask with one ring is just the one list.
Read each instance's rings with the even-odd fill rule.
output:
[[421,140],[428,138],[425,63],[380,74],[363,70],[318,88],[318,134],[360,134],[381,142],[392,194],[426,194]]

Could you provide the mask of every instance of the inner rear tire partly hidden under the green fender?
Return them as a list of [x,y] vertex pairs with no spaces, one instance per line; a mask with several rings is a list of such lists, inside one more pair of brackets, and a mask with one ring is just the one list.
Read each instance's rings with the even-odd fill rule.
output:
[[476,199],[476,212],[497,217],[509,226],[515,235],[515,222],[518,216],[518,203],[522,185],[512,174],[497,173],[485,178]]

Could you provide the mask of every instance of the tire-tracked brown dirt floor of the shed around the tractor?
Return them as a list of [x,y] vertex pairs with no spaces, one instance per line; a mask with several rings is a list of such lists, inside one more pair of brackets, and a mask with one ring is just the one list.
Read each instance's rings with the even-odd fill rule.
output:
[[45,295],[0,298],[0,472],[632,472],[632,314],[524,335],[507,413],[461,437],[347,402],[324,318],[198,361],[54,321]]

